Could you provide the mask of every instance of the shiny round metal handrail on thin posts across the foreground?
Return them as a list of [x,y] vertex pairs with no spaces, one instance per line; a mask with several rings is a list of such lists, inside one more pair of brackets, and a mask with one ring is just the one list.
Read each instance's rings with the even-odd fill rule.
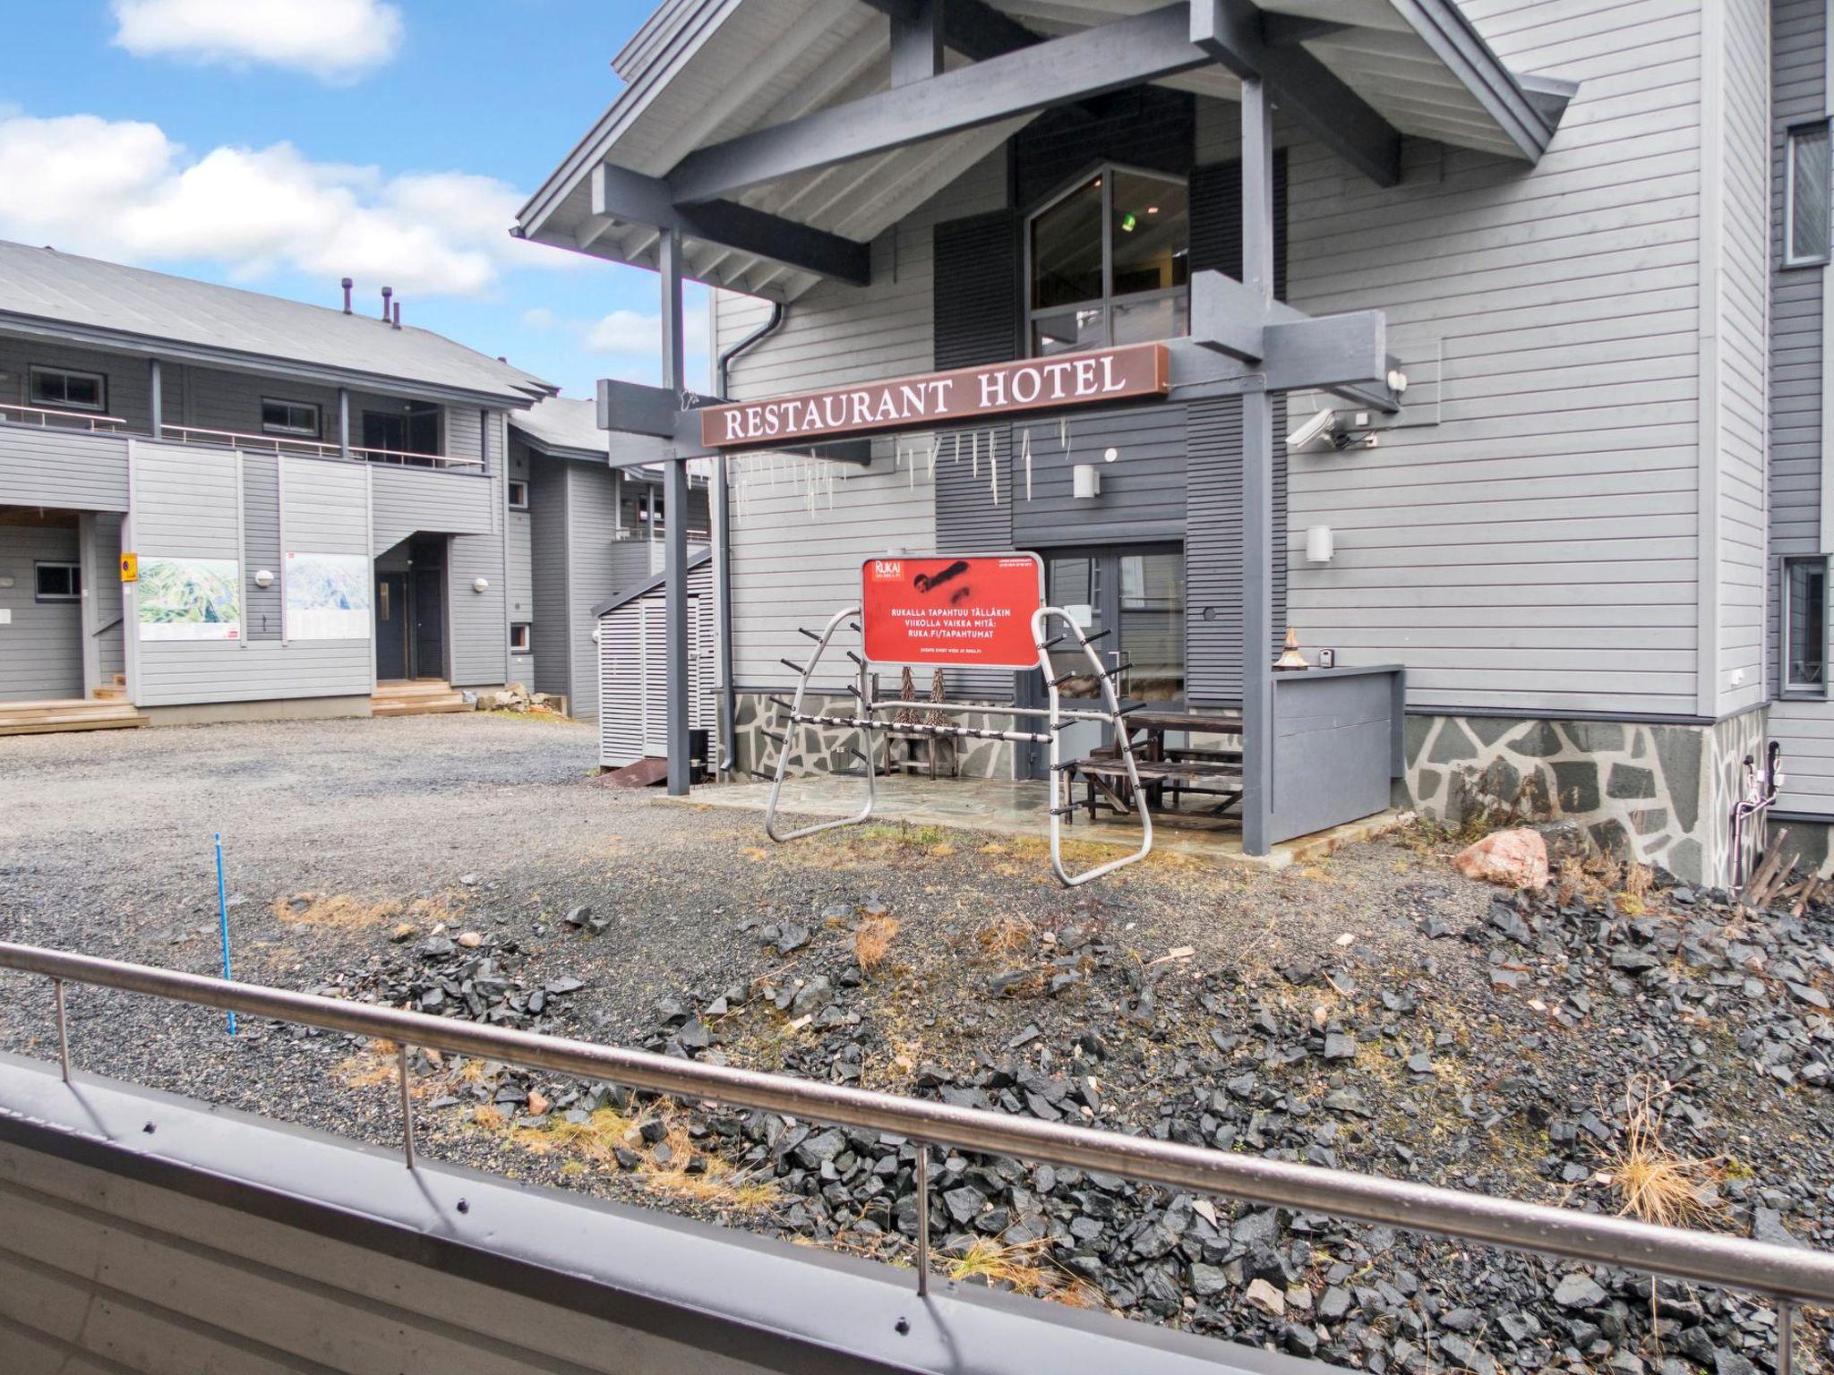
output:
[[[1779,1309],[1779,1375],[1788,1375],[1790,1370],[1792,1309],[1799,1304],[1834,1305],[1834,1254],[1806,1247],[1652,1226],[1608,1214],[1464,1194],[1350,1170],[1267,1160],[1031,1116],[1007,1116],[924,1098],[677,1060],[647,1050],[592,1045],[39,946],[0,942],[0,968],[55,981],[59,1054],[66,1080],[70,1080],[70,1041],[64,1023],[68,981],[392,1040],[402,1047],[398,1065],[403,1109],[409,1104],[407,1047],[418,1045],[499,1060],[523,1069],[578,1074],[653,1093],[904,1137],[919,1146],[919,1258],[928,1252],[928,1190],[923,1188],[928,1175],[928,1148],[948,1146],[1764,1294]],[[405,1113],[403,1126],[403,1146],[413,1168],[413,1118]],[[919,1292],[926,1283],[928,1270],[919,1265]]]

